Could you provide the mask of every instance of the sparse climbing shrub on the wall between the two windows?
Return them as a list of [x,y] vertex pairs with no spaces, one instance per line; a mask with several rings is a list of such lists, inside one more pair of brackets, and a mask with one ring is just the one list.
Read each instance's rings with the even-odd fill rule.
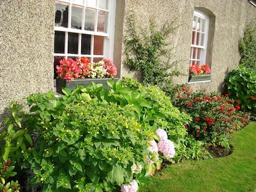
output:
[[129,18],[129,36],[125,40],[125,63],[131,69],[141,72],[143,84],[157,84],[162,89],[170,84],[171,77],[178,75],[177,71],[170,72],[172,50],[168,48],[168,35],[175,28],[175,21],[166,22],[158,28],[154,19],[149,20],[149,32],[136,24],[134,13]]

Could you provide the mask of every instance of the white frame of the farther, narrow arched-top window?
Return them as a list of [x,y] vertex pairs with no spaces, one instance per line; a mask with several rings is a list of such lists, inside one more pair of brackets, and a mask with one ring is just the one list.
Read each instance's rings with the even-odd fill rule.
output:
[[[198,19],[201,22],[198,22]],[[197,22],[195,22],[195,20]],[[203,27],[202,20],[205,20],[204,29],[202,29],[202,27]],[[192,63],[197,63],[198,65],[206,64],[207,43],[208,43],[208,35],[209,35],[209,21],[210,21],[209,15],[206,15],[204,12],[201,12],[199,10],[194,10],[189,65],[192,65]],[[200,29],[200,31],[197,30],[198,28]],[[204,31],[204,32],[202,32],[202,31]],[[193,34],[194,34],[194,42],[196,42],[196,40],[199,40],[199,44],[201,44],[201,42],[200,42],[201,34],[204,35],[204,42],[201,45],[192,44],[193,43]],[[198,35],[199,35],[199,38],[198,38]],[[198,58],[193,58],[193,55],[198,54],[198,49],[200,49],[200,56]],[[195,52],[195,50],[196,50],[196,52]]]

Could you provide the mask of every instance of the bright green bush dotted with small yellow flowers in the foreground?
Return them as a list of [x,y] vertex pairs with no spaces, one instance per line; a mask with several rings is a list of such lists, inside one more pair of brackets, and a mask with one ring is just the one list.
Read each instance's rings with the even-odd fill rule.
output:
[[[99,84],[92,87],[95,96],[102,90],[101,98],[108,92]],[[114,191],[131,182],[132,164],[147,165],[152,129],[136,120],[130,104],[92,99],[83,87],[63,92],[59,100],[49,97],[51,93],[27,98],[27,118],[36,120],[40,133],[40,145],[26,150],[22,164],[33,169],[32,182],[42,182],[43,191]]]

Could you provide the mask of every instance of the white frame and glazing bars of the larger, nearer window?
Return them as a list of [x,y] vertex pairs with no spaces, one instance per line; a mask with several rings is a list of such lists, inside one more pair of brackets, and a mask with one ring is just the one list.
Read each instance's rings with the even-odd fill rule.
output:
[[[68,12],[71,11],[72,9],[72,4],[77,4],[79,6],[83,6],[84,8],[88,7],[90,8],[90,6],[86,6],[86,2],[88,1],[96,1],[96,3],[98,4],[100,0],[80,0],[80,1],[76,1],[76,0],[58,0],[56,1],[56,3],[60,2],[60,3],[68,3]],[[85,11],[83,11],[83,20],[82,20],[82,29],[73,29],[71,28],[71,14],[68,14],[68,27],[61,27],[61,26],[54,26],[54,32],[55,31],[62,31],[65,33],[65,47],[64,47],[64,53],[55,53],[54,52],[54,56],[60,56],[60,57],[86,57],[86,58],[90,58],[91,61],[93,61],[93,58],[108,58],[110,60],[113,60],[113,55],[114,55],[114,37],[115,37],[115,12],[116,12],[116,0],[108,0],[108,8],[106,10],[101,9],[101,8],[97,8],[96,12],[98,12],[99,10],[103,10],[105,12],[108,12],[108,29],[106,31],[106,33],[104,32],[97,32],[97,31],[88,31],[88,30],[84,30],[83,29],[83,25],[84,25],[84,14]],[[77,2],[77,3],[76,3]],[[95,8],[95,7],[93,7]],[[85,10],[85,9],[84,9]],[[97,13],[95,14],[97,15]],[[96,17],[97,19],[97,17]],[[95,28],[97,29],[97,22],[95,22]],[[68,33],[77,33],[78,34],[78,53],[77,54],[70,54],[68,53]],[[91,38],[91,52],[90,54],[81,54],[81,35],[82,34],[86,34],[86,35],[92,35]],[[104,47],[103,47],[103,54],[102,55],[95,55],[92,54],[92,50],[93,50],[93,36],[103,36],[104,37]]]

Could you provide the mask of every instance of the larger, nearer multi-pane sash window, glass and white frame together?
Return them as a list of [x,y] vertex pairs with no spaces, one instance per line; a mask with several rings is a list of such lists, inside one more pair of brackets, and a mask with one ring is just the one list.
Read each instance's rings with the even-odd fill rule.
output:
[[116,0],[59,0],[54,56],[113,60]]

